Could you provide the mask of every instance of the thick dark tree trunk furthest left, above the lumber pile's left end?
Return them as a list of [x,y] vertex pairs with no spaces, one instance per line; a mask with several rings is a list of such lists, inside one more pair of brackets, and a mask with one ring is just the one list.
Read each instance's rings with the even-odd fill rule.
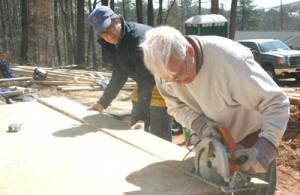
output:
[[26,64],[28,61],[28,1],[21,1],[21,14],[22,14],[22,39],[21,39],[21,51],[20,51],[20,63]]

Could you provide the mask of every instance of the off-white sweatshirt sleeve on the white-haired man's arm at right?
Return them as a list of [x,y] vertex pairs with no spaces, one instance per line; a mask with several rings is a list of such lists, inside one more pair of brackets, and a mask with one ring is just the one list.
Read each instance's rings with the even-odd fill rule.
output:
[[290,104],[287,95],[252,56],[245,58],[242,62],[232,62],[240,63],[240,65],[231,66],[235,68],[226,70],[229,71],[228,75],[232,75],[229,82],[223,81],[223,83],[229,83],[227,86],[221,83],[222,79],[219,80],[217,84],[223,86],[218,87],[220,95],[249,110],[258,112],[261,119],[259,137],[264,137],[277,146],[289,120]]

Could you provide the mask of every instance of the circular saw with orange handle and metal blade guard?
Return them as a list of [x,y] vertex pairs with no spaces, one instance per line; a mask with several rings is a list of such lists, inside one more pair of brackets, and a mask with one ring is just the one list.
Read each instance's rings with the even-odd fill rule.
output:
[[239,171],[239,164],[233,157],[235,143],[224,127],[220,129],[225,145],[212,137],[203,138],[194,147],[194,167],[187,174],[227,193],[268,185]]

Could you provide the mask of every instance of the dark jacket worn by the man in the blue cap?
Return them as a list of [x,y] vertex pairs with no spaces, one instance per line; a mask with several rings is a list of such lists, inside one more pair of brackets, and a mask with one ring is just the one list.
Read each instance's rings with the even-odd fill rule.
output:
[[[152,27],[122,21],[121,38],[117,45],[106,45],[111,59],[113,73],[110,83],[105,88],[99,103],[105,108],[118,95],[128,77],[138,84],[138,116],[137,120],[146,121],[150,113],[152,89],[155,85],[154,77],[143,62],[143,51],[139,44],[144,39],[145,32]],[[102,49],[105,49],[102,47]]]

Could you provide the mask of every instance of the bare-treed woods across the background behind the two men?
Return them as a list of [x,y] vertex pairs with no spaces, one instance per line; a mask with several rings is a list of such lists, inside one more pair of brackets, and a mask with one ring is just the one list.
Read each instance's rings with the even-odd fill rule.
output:
[[87,20],[98,5],[110,6],[126,21],[166,24],[182,33],[185,20],[194,15],[222,14],[231,39],[236,30],[300,29],[299,18],[289,16],[299,6],[255,9],[252,0],[231,0],[231,10],[219,0],[211,0],[211,9],[203,8],[201,0],[0,0],[1,55],[20,65],[107,66]]

